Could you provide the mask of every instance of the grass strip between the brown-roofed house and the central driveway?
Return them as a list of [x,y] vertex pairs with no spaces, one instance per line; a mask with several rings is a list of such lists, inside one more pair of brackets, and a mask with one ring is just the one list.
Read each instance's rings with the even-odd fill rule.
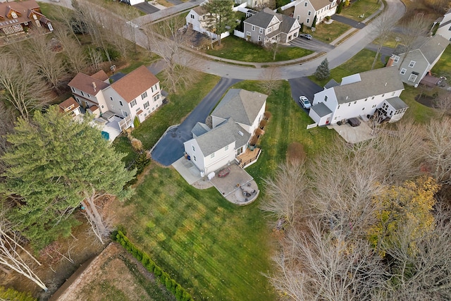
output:
[[218,81],[219,78],[215,75],[202,74],[192,89],[178,94],[169,94],[169,103],[147,118],[138,128],[135,128],[132,135],[141,140],[144,149],[152,148],[166,129],[170,125],[180,123]]

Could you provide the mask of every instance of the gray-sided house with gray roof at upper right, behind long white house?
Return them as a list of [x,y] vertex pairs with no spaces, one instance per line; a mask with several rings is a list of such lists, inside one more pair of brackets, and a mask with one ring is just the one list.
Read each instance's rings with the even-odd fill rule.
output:
[[393,54],[388,60],[387,66],[395,66],[399,69],[403,82],[417,87],[438,62],[447,45],[447,39],[441,35],[428,37],[419,48],[409,51],[407,54],[405,52]]

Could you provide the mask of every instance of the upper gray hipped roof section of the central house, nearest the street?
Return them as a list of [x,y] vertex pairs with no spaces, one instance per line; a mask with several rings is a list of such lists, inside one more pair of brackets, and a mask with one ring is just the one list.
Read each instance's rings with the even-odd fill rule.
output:
[[230,89],[211,116],[233,118],[237,123],[252,125],[268,95],[242,89]]

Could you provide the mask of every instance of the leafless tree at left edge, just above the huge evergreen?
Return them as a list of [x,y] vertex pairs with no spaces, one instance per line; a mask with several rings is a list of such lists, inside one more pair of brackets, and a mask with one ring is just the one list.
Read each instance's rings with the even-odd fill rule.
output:
[[0,70],[0,87],[4,90],[0,99],[10,103],[23,118],[51,101],[45,97],[47,87],[34,66],[2,54]]

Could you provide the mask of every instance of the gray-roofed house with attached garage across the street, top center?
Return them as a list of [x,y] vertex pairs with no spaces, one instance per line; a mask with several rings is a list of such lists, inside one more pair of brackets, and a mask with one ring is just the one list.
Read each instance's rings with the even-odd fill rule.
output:
[[295,18],[275,13],[269,8],[244,21],[244,37],[257,44],[286,44],[299,35],[300,25]]

